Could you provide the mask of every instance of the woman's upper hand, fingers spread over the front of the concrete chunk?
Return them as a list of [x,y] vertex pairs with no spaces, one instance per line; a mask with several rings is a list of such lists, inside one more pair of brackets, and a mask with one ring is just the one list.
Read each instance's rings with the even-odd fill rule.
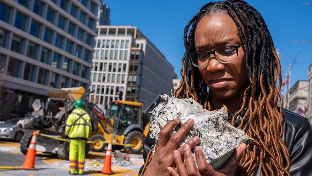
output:
[[[160,131],[158,144],[155,149],[155,153],[151,162],[148,164],[144,175],[145,176],[170,176],[168,167],[175,167],[175,158],[173,157],[173,151],[176,151],[183,155],[183,146],[179,146],[182,138],[189,132],[194,124],[193,119],[188,119],[182,127],[175,132],[170,138],[169,133],[172,129],[181,123],[180,119],[170,120]],[[188,147],[194,147],[199,143],[198,137],[193,137],[186,144]],[[181,154],[180,154],[181,153]]]

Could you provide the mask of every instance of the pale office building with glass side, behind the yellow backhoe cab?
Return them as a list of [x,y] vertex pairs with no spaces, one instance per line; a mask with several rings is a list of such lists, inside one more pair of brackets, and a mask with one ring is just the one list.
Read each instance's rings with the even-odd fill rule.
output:
[[159,94],[171,95],[177,77],[165,56],[132,26],[98,26],[92,61],[90,101],[100,106],[111,100],[149,105]]

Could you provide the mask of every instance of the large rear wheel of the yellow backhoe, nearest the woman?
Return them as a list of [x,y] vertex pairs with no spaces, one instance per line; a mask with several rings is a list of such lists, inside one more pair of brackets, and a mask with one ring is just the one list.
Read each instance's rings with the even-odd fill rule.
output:
[[134,153],[134,154],[138,154],[141,153],[141,150],[143,148],[143,141],[144,141],[144,137],[142,132],[139,131],[132,131],[129,132],[126,137],[125,137],[125,144],[133,144],[136,146],[132,146],[132,147],[124,147],[125,152],[127,153]]

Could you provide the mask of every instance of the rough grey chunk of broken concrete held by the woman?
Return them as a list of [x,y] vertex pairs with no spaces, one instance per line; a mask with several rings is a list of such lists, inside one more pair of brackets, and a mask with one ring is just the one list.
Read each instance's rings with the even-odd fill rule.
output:
[[[215,169],[220,169],[241,143],[253,141],[244,131],[233,127],[228,122],[225,106],[216,111],[208,111],[192,98],[178,99],[163,94],[160,103],[150,113],[153,117],[150,125],[150,137],[156,140],[154,149],[157,146],[159,132],[168,121],[180,118],[181,124],[184,124],[187,119],[192,118],[195,123],[180,142],[180,146],[194,136],[200,137],[199,146],[205,154],[206,161]],[[179,127],[173,129],[170,136]],[[194,154],[193,156],[196,161]]]

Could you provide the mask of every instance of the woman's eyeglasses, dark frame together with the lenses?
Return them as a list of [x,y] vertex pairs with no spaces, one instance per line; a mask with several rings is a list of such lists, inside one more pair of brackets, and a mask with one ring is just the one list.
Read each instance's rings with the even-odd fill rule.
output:
[[213,51],[195,51],[191,52],[189,56],[195,67],[206,67],[211,59],[211,54],[214,55],[214,58],[217,61],[223,64],[228,64],[237,59],[238,48],[244,44],[245,43],[236,46],[220,47]]

